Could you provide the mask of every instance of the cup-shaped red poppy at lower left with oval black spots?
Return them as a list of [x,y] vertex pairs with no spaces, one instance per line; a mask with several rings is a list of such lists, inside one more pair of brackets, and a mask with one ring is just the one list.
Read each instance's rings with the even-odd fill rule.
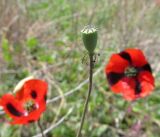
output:
[[32,79],[12,94],[2,96],[0,104],[11,118],[11,124],[27,124],[37,121],[46,109],[47,83]]

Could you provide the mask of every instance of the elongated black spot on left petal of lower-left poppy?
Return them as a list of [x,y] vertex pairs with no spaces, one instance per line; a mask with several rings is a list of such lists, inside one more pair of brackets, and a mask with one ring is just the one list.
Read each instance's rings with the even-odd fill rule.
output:
[[7,106],[8,111],[9,111],[12,115],[17,116],[17,117],[20,117],[20,116],[23,115],[23,113],[22,113],[22,112],[19,112],[11,103],[8,103],[6,106]]

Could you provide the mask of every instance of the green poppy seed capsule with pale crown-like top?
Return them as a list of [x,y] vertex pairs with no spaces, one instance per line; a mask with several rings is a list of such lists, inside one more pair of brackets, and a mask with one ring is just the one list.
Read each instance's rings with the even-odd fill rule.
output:
[[97,45],[97,29],[93,26],[86,26],[81,31],[85,48],[89,53],[93,53]]

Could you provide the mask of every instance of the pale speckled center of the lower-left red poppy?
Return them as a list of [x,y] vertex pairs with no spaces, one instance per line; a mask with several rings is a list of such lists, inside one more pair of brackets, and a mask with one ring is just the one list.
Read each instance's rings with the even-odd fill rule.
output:
[[25,110],[27,110],[28,113],[37,109],[36,104],[33,100],[28,100],[27,102],[25,102],[24,108]]

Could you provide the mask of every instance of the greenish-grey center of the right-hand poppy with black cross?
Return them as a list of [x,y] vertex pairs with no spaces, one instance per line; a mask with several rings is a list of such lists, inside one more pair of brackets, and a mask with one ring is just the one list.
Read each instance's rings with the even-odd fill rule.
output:
[[124,71],[124,74],[126,77],[135,77],[137,75],[138,71],[135,67],[127,67]]

